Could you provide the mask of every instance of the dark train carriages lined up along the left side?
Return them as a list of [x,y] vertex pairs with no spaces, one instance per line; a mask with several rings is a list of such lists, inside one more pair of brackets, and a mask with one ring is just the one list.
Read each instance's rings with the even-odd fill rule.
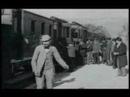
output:
[[[35,47],[40,44],[41,35],[49,34],[52,45],[57,48],[57,42],[66,46],[80,39],[100,36],[88,32],[77,22],[69,23],[55,16],[48,18],[23,9],[1,9],[1,20],[3,87],[11,83],[12,78],[32,75],[30,61]],[[58,50],[61,56],[64,55],[64,51]]]

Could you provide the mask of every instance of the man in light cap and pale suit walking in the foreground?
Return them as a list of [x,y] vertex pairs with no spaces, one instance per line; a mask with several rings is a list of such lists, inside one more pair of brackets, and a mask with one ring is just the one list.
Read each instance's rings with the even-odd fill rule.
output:
[[50,45],[51,37],[43,35],[41,44],[35,48],[31,65],[35,74],[37,89],[52,89],[54,79],[53,56],[57,62],[65,69],[69,66],[63,61],[59,52],[54,46]]

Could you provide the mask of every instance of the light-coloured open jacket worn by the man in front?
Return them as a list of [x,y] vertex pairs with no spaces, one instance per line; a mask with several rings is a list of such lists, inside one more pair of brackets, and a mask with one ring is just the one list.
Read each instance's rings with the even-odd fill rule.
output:
[[[32,61],[31,61],[33,72],[37,71],[37,72],[40,73],[42,71],[42,68],[45,65],[44,63],[45,63],[45,60],[46,60],[46,56],[47,56],[47,53],[45,52],[44,47],[42,45],[37,46],[35,51],[34,51]],[[57,49],[54,46],[51,46],[50,50],[49,50],[49,62],[50,62],[50,64],[47,67],[44,67],[44,68],[54,68],[53,56],[61,66],[64,67],[65,65],[67,65],[63,61],[63,59],[61,58]]]

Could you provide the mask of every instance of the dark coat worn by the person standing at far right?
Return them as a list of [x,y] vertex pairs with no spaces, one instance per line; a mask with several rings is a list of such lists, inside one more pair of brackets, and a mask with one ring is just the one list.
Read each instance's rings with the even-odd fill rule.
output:
[[127,47],[124,43],[121,43],[117,48],[115,47],[114,52],[118,52],[119,54],[116,56],[117,58],[117,66],[119,68],[127,65]]

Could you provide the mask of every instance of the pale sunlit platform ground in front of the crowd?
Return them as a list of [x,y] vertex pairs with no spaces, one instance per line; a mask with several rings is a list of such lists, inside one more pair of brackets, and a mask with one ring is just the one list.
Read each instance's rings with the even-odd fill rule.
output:
[[[128,89],[128,75],[117,76],[117,69],[105,64],[84,65],[72,73],[59,73],[54,89]],[[35,89],[35,83],[26,89]]]

